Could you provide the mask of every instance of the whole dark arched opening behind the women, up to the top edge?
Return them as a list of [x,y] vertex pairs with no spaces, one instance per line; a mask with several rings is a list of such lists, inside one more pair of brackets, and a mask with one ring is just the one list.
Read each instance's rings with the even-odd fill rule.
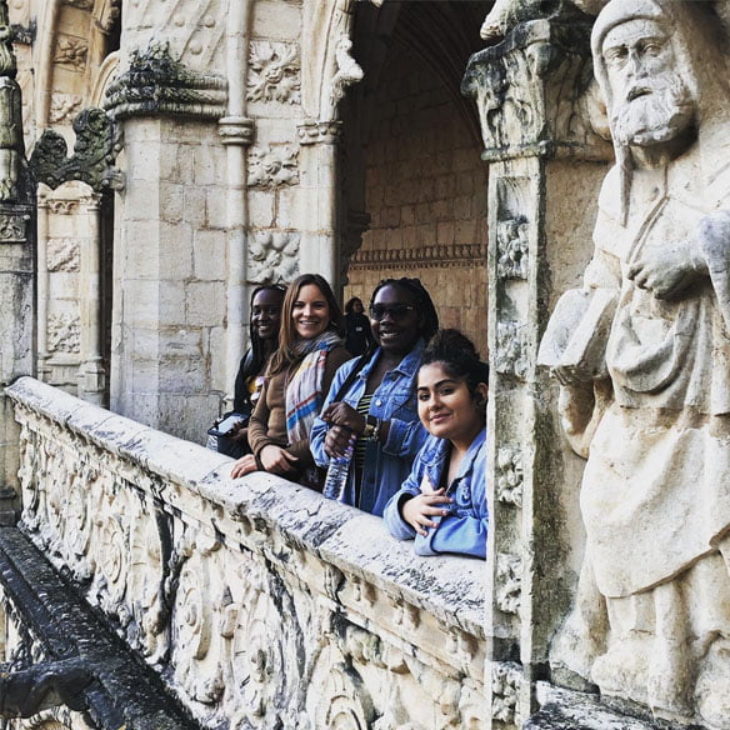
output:
[[486,355],[487,166],[461,97],[489,2],[358,4],[353,55],[365,71],[343,108],[345,298],[417,276],[443,327]]

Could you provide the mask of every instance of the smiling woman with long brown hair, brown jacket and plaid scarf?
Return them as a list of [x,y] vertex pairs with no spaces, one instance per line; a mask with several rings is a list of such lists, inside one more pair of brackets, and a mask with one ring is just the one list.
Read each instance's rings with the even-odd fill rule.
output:
[[350,359],[341,328],[342,313],[325,279],[303,274],[289,285],[279,347],[251,416],[248,440],[253,454],[233,465],[232,477],[263,470],[321,488],[309,432],[337,368]]

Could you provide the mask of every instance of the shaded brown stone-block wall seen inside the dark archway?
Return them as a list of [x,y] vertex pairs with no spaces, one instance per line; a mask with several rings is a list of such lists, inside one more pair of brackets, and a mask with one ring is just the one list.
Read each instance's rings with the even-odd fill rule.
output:
[[486,355],[487,168],[442,77],[394,44],[373,102],[365,158],[370,226],[348,270],[345,298],[366,304],[380,279],[417,276],[442,326]]

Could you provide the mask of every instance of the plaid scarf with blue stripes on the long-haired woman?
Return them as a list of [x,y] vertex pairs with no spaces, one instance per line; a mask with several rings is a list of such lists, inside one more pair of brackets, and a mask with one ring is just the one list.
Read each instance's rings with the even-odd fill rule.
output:
[[290,444],[309,438],[326,395],[322,381],[327,353],[340,345],[342,339],[331,330],[297,343],[298,353],[304,359],[286,387],[286,437]]

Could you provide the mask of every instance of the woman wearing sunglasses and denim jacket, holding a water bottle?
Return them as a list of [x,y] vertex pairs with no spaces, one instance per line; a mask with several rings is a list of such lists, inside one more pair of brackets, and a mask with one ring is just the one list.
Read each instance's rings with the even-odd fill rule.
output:
[[354,444],[340,499],[382,515],[427,436],[415,384],[438,315],[418,279],[386,279],[373,292],[370,324],[377,348],[337,371],[310,441],[322,467]]

